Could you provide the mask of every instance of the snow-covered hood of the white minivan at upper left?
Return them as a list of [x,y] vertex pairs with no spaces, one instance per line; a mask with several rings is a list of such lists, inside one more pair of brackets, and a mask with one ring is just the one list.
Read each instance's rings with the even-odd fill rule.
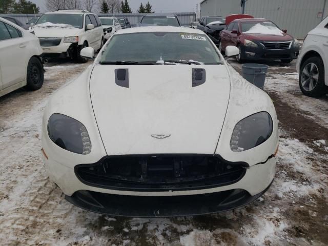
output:
[[76,35],[79,30],[78,28],[39,28],[33,27],[32,29],[37,37],[69,37]]

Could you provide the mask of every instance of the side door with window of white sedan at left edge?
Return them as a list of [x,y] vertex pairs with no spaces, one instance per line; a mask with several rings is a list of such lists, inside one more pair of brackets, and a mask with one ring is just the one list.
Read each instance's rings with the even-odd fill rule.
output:
[[0,21],[2,89],[25,80],[28,53],[23,33],[10,24]]

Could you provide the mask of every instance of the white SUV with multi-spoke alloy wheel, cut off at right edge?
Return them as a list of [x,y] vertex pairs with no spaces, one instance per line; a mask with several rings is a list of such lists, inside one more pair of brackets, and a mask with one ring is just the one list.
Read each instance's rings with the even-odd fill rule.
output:
[[305,37],[297,60],[304,95],[321,96],[328,86],[328,17]]

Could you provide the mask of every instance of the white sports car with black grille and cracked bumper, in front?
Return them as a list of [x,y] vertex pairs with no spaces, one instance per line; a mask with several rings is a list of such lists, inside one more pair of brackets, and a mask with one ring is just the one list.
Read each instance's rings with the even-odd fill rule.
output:
[[103,214],[222,212],[261,196],[275,176],[270,97],[197,29],[116,32],[93,65],[51,97],[42,133],[50,178],[68,201]]

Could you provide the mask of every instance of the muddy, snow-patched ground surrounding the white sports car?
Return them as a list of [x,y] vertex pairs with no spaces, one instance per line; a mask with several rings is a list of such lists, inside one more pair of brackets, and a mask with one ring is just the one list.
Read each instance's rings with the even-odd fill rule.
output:
[[[240,72],[233,59],[229,63]],[[49,63],[42,89],[0,97],[0,245],[328,244],[328,98],[302,95],[295,61],[270,63],[264,88],[280,129],[277,173],[268,192],[230,212],[170,219],[84,211],[49,180],[40,152],[44,106],[90,64]]]

